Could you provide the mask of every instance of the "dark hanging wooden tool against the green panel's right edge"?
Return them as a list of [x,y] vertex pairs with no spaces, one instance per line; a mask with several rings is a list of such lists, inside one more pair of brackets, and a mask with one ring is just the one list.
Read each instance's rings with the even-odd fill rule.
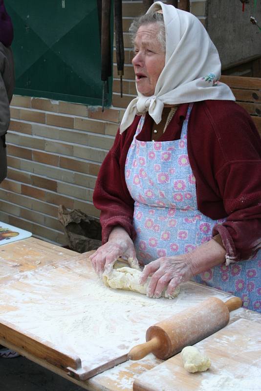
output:
[[[108,79],[111,76],[111,53],[110,53],[110,11],[111,0],[102,0],[102,26],[101,26],[101,56],[103,81],[102,111],[104,111],[105,93],[109,90]],[[107,88],[107,91],[105,89]]]

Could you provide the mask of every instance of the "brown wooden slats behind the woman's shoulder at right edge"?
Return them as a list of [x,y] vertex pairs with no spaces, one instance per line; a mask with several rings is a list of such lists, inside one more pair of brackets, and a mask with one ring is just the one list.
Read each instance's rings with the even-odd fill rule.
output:
[[261,78],[221,76],[220,81],[232,89],[237,103],[252,116],[261,136]]

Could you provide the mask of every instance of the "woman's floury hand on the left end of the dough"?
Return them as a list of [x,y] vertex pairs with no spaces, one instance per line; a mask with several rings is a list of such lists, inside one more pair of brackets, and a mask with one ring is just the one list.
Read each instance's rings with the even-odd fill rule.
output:
[[130,266],[139,268],[133,241],[121,226],[116,226],[109,234],[108,242],[99,247],[89,258],[95,272],[101,276],[109,274],[118,257],[127,258]]

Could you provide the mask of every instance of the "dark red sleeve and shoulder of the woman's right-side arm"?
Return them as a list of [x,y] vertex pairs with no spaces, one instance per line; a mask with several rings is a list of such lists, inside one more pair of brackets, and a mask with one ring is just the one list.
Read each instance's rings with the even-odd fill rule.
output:
[[195,110],[191,118],[190,137],[198,209],[213,219],[226,217],[213,235],[220,234],[228,262],[245,260],[261,247],[261,139],[238,104],[200,105],[201,115],[196,118]]

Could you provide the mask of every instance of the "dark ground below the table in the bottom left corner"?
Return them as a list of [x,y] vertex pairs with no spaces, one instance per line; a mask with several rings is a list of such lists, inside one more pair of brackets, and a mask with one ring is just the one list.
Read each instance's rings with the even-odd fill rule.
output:
[[83,391],[63,377],[19,356],[0,358],[1,391]]

